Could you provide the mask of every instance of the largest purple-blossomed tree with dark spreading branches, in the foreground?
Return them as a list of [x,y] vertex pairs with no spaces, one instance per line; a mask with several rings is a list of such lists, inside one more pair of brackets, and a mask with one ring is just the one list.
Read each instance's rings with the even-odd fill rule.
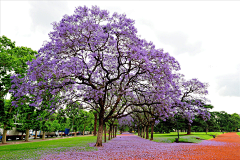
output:
[[[161,101],[174,85],[178,62],[155,49],[152,42],[140,39],[134,20],[124,14],[110,16],[96,6],[77,7],[72,16],[65,15],[53,23],[53,29],[51,41],[39,49],[36,60],[28,63],[28,75],[12,77],[19,87],[13,91],[18,98],[13,105],[17,107],[23,101],[21,97],[28,94],[33,101],[30,105],[39,108],[45,91],[53,95],[49,99],[51,111],[58,108],[57,103],[79,101],[82,108],[98,113],[96,146],[102,146],[103,124],[126,116],[128,107],[138,105],[134,102],[138,95],[149,97],[154,93]],[[61,96],[57,103],[54,95]]]

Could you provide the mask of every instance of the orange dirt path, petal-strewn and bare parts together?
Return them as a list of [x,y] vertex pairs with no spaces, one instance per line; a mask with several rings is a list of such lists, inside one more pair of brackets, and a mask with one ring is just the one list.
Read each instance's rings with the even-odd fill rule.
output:
[[[89,144],[93,147],[95,143]],[[157,143],[130,133],[123,133],[98,151],[62,152],[42,157],[42,160],[63,159],[240,159],[240,137],[225,133],[201,143]]]

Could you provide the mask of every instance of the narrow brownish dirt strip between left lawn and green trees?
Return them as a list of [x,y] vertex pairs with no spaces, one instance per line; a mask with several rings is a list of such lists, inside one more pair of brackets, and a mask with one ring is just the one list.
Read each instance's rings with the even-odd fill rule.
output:
[[[85,135],[85,136],[92,136],[92,135]],[[14,141],[7,141],[6,144],[2,144],[2,142],[0,142],[0,146],[4,146],[4,145],[13,145],[13,144],[22,144],[22,143],[32,143],[32,142],[42,142],[42,141],[49,141],[49,140],[56,140],[56,139],[64,139],[64,138],[73,138],[74,136],[67,136],[67,137],[58,137],[58,138],[46,138],[45,140],[42,140],[42,138],[38,138],[38,139],[29,139],[28,142],[25,142],[24,140],[14,140]],[[83,137],[83,136],[77,136],[77,137]]]

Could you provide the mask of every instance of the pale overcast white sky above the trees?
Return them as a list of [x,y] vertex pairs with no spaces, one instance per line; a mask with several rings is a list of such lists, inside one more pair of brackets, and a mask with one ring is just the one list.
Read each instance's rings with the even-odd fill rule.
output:
[[240,114],[240,2],[236,1],[0,1],[0,35],[38,51],[52,22],[75,7],[123,14],[138,35],[180,63],[187,80],[209,83],[212,111]]

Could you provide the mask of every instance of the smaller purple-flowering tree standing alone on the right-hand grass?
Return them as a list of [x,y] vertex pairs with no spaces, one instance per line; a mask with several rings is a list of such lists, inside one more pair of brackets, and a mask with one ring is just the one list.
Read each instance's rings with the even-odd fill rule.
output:
[[188,120],[188,132],[191,134],[191,123],[196,115],[201,117],[204,121],[210,119],[210,113],[206,103],[209,102],[204,96],[208,94],[207,83],[202,83],[198,79],[191,79],[186,81],[184,78],[179,83],[181,89],[181,99],[175,102],[177,109],[177,116],[186,118]]

